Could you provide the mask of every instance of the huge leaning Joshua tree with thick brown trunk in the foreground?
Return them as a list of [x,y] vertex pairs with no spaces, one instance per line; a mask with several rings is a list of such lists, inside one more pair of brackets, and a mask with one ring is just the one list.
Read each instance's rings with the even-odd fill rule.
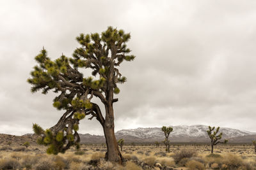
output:
[[[131,61],[135,57],[128,54],[131,50],[126,43],[130,37],[123,30],[108,27],[101,34],[77,36],[81,47],[74,50],[71,58],[61,55],[60,58],[51,60],[44,48],[36,55],[38,65],[28,79],[32,85],[31,92],[42,90],[43,94],[47,94],[49,90],[53,90],[58,94],[53,106],[58,110],[65,110],[58,123],[50,129],[44,130],[33,124],[35,133],[42,137],[38,142],[49,145],[47,153],[57,154],[65,152],[72,145],[79,145],[79,121],[86,115],[91,115],[88,119],[95,117],[102,125],[108,147],[106,159],[122,163],[114,133],[113,103],[118,101],[114,97],[114,94],[120,92],[118,83],[126,81],[118,67],[123,61]],[[95,78],[84,77],[80,71],[82,68],[92,70]],[[99,103],[91,101],[93,97],[98,97],[104,105],[105,117]]]

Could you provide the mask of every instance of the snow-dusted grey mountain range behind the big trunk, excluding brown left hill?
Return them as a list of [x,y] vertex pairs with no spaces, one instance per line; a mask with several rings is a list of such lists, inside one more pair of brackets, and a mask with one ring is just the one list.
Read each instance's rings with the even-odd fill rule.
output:
[[[207,135],[207,125],[177,125],[170,126],[173,131],[170,133],[171,142],[209,142]],[[231,129],[227,127],[220,127],[220,132],[223,132],[223,139],[231,139],[232,142],[241,141],[241,138],[256,136],[255,132],[241,131],[237,129]],[[81,141],[90,142],[93,141],[102,143],[104,142],[104,136],[95,136],[90,134],[81,134]],[[148,127],[137,129],[123,129],[116,132],[116,138],[124,138],[127,143],[129,142],[154,142],[163,141],[164,134],[161,131],[161,127]],[[233,139],[234,138],[234,139]]]

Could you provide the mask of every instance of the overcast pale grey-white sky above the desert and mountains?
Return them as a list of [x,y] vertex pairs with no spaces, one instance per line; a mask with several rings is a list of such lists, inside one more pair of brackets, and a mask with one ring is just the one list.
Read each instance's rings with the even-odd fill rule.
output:
[[[71,56],[80,33],[131,32],[115,130],[215,125],[256,132],[256,1],[0,1],[0,133],[56,124],[54,94],[26,82],[42,46]],[[89,76],[89,75],[85,75]],[[79,133],[103,134],[97,120]]]

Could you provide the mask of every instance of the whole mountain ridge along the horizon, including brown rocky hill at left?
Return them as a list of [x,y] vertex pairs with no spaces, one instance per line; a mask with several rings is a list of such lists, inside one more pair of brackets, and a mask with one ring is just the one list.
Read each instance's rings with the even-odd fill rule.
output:
[[[171,143],[209,143],[210,139],[207,135],[207,125],[176,125],[173,132],[170,133]],[[256,139],[256,132],[241,131],[228,127],[220,127],[223,132],[222,139],[228,139],[230,143],[251,143]],[[116,139],[123,138],[125,143],[154,143],[164,140],[164,134],[161,127],[138,127],[136,129],[122,129],[116,131]],[[102,135],[95,134],[79,134],[81,143],[105,143],[106,140]],[[8,140],[31,141],[36,143],[34,134],[24,134],[22,136],[14,136],[10,134],[0,134],[0,144],[7,143]]]

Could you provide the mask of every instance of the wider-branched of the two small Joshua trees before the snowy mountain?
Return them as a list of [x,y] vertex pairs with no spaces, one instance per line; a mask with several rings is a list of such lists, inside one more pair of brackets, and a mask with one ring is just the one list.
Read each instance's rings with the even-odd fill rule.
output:
[[219,143],[227,143],[228,140],[225,139],[224,141],[219,141],[222,138],[222,132],[218,134],[220,127],[217,127],[216,131],[214,131],[215,127],[209,126],[209,130],[207,131],[207,134],[209,135],[209,138],[211,139],[211,153],[213,153],[213,146],[218,145]]

